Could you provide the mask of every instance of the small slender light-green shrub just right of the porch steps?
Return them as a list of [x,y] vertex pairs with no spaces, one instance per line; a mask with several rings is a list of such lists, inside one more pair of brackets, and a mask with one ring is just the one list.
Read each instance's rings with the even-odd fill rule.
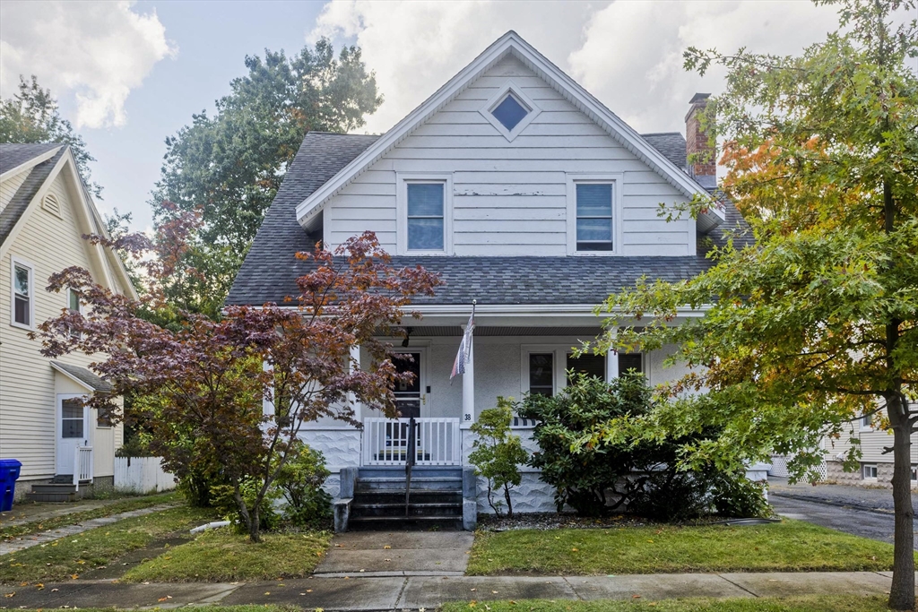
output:
[[520,436],[513,435],[513,398],[498,397],[498,406],[482,410],[472,425],[476,440],[468,461],[476,467],[475,473],[487,479],[487,505],[500,516],[500,502],[494,501],[495,491],[503,491],[507,502],[507,516],[513,516],[510,489],[520,486],[520,466],[529,458],[523,450]]

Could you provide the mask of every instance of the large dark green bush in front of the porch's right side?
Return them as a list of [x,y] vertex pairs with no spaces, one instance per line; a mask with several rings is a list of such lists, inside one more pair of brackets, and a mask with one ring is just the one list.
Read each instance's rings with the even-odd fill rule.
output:
[[533,438],[539,451],[530,465],[554,487],[559,512],[572,507],[578,515],[599,517],[627,508],[655,520],[676,521],[714,512],[725,516],[771,514],[759,484],[744,473],[714,465],[695,471],[678,466],[677,451],[714,438],[703,430],[673,440],[635,440],[624,429],[615,438],[599,428],[613,419],[634,419],[653,408],[644,375],[625,373],[609,383],[585,373],[568,373],[570,382],[552,396],[526,395],[517,406],[521,417],[536,421]]

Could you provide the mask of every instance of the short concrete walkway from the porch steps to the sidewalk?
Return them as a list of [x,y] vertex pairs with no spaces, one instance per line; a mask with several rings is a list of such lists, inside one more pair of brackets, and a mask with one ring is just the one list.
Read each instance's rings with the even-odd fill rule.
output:
[[331,539],[317,577],[461,576],[475,535],[469,531],[349,531]]

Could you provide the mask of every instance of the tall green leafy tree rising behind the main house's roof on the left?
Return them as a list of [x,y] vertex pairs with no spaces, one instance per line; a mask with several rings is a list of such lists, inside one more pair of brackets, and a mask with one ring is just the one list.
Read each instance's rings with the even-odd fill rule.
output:
[[181,294],[200,294],[194,299],[202,306],[219,305],[229,292],[306,133],[360,128],[382,103],[357,47],[336,55],[322,39],[291,57],[265,50],[263,59],[246,57],[245,66],[248,73],[230,83],[213,117],[195,115],[191,125],[166,139],[162,174],[152,192],[157,225],[185,212],[202,215],[187,256],[194,260],[189,266],[203,273],[203,283]]

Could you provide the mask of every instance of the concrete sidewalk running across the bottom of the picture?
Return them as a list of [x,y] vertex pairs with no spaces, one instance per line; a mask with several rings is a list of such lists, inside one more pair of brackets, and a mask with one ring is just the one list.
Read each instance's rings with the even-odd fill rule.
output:
[[294,604],[307,609],[435,609],[448,601],[884,595],[889,572],[677,573],[620,576],[312,577],[256,583],[118,584],[79,581],[0,586],[9,608]]

